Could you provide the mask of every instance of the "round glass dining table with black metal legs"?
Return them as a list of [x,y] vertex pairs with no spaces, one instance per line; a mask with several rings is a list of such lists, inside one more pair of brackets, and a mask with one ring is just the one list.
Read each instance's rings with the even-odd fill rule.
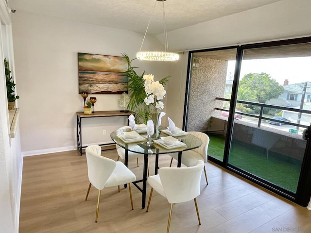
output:
[[[159,127],[160,137],[168,136],[166,133],[167,127]],[[151,145],[147,144],[145,139],[147,134],[140,133],[142,137],[140,140],[125,140],[123,135],[124,132],[130,132],[130,128],[119,129],[110,134],[111,139],[120,147],[125,149],[125,159],[124,165],[128,166],[128,151],[135,153],[144,154],[144,166],[143,166],[143,177],[141,180],[133,182],[133,184],[142,193],[141,208],[145,208],[146,204],[146,188],[147,188],[147,166],[148,166],[148,155],[155,155],[155,174],[158,170],[158,159],[160,154],[176,153],[178,152],[177,167],[181,166],[182,152],[186,150],[193,150],[202,146],[202,140],[198,137],[185,133],[180,136],[174,136],[178,139],[176,146],[167,147],[165,144],[160,144],[156,142],[161,142],[161,140],[155,140]],[[138,186],[138,183],[142,183],[142,187]],[[126,185],[125,185],[126,187]]]

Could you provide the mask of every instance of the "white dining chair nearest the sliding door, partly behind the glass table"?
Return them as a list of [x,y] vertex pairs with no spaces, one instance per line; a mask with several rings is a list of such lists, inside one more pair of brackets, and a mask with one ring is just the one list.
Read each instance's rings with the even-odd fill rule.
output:
[[[202,160],[204,163],[207,163],[207,150],[208,150],[208,144],[209,144],[209,137],[206,133],[202,132],[188,132],[202,140],[202,146],[193,150],[186,150],[182,152],[181,156],[181,163],[185,166],[194,166],[198,160]],[[172,159],[170,163],[170,167],[172,166],[173,158],[175,160],[178,160],[178,153],[171,153],[169,154]],[[207,173],[204,166],[204,174],[207,182]]]

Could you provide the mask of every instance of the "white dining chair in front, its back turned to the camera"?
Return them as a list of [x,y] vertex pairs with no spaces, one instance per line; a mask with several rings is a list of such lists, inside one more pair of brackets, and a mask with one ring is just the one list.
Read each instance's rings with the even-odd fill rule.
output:
[[194,200],[199,225],[201,225],[200,214],[196,197],[200,195],[201,175],[204,162],[198,160],[195,166],[190,167],[161,167],[158,174],[148,177],[151,186],[147,210],[149,210],[153,190],[165,197],[171,204],[166,232],[169,233],[173,204]]

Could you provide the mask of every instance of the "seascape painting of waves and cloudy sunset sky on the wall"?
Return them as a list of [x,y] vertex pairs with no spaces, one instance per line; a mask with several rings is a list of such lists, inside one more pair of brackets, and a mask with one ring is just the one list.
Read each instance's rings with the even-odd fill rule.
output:
[[78,53],[79,93],[121,94],[128,91],[123,57]]

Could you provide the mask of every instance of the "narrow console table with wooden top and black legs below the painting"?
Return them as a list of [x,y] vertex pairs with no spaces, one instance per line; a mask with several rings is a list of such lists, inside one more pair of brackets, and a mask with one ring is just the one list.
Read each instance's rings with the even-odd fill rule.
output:
[[[82,119],[83,118],[92,118],[92,117],[105,117],[105,116],[130,116],[131,114],[135,115],[135,113],[129,112],[121,112],[121,111],[96,111],[92,114],[84,114],[83,112],[77,112],[77,148],[80,151],[80,155],[82,155],[82,149],[86,147],[82,147]],[[112,145],[115,143],[106,143],[101,144],[99,146],[104,145]]]

